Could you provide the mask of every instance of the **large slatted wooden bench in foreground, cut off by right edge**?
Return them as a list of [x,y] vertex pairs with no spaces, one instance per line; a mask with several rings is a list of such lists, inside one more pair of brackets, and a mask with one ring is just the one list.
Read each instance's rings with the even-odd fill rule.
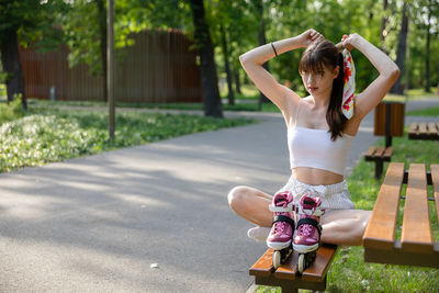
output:
[[[436,201],[439,218],[439,165],[391,162],[363,236],[364,261],[439,268],[439,243],[434,241],[428,201]],[[406,195],[401,196],[403,184]],[[428,194],[427,185],[432,184]],[[404,200],[401,239],[395,237],[399,201]],[[432,225],[438,225],[436,223]]]

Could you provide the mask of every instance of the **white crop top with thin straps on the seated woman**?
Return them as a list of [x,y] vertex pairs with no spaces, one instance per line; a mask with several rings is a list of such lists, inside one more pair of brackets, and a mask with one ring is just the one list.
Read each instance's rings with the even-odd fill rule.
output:
[[[297,124],[297,115],[295,124]],[[296,125],[289,127],[288,145],[291,169],[309,167],[344,176],[354,138],[352,135],[344,134],[342,137],[337,137],[333,142],[327,129],[313,129]]]

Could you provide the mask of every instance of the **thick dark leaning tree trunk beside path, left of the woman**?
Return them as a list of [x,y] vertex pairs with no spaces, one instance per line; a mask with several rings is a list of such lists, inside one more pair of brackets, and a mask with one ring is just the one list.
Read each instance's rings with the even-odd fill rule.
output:
[[190,0],[193,25],[195,26],[194,42],[201,59],[201,83],[203,87],[204,114],[206,116],[223,117],[218,78],[215,60],[213,58],[213,45],[211,33],[204,18],[203,0]]

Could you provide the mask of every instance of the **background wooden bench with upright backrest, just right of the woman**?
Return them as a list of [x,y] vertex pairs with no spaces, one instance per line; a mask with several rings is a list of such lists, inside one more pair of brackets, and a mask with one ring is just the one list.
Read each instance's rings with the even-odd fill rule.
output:
[[364,155],[365,161],[375,162],[375,178],[381,178],[384,161],[391,161],[393,155],[392,137],[404,135],[405,104],[381,102],[375,108],[373,134],[385,136],[385,147],[371,146]]

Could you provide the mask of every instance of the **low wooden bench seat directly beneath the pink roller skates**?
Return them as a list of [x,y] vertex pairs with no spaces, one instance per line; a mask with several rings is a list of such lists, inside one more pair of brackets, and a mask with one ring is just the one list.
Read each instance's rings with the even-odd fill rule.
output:
[[297,292],[299,289],[324,291],[326,273],[337,251],[336,245],[324,244],[318,250],[313,264],[302,275],[297,274],[297,252],[274,270],[272,266],[273,250],[271,248],[249,269],[255,277],[255,284],[281,286],[282,292]]

